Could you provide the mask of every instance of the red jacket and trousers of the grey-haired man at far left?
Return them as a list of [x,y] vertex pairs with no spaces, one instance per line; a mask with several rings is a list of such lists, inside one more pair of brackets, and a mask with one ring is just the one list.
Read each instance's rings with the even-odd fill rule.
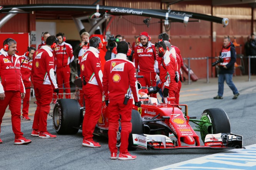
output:
[[15,138],[23,136],[20,130],[20,93],[25,93],[25,87],[20,73],[19,57],[16,54],[9,56],[3,49],[0,50],[0,93],[5,93],[4,100],[0,100],[0,127],[5,110],[9,105]]

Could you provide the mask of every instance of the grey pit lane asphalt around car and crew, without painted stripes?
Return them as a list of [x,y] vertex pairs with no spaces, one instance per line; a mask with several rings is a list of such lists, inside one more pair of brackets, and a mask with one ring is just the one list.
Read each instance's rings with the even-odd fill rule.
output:
[[[217,78],[198,80],[191,85],[183,83],[180,103],[188,105],[188,115],[200,118],[201,113],[208,108],[223,108],[228,114],[231,132],[243,135],[243,145],[256,143],[255,110],[256,110],[256,77],[251,82],[246,76],[233,78],[239,90],[237,100],[232,100],[233,94],[225,84],[224,99],[214,100],[217,95]],[[7,115],[8,116],[8,115]],[[10,117],[9,117],[10,118]],[[191,123],[194,127],[194,124]],[[13,145],[14,134],[11,125],[1,127],[0,137],[0,169],[153,169],[194,159],[226,150],[214,149],[177,149],[177,150],[136,150],[136,160],[111,160],[108,150],[108,140],[104,137],[94,137],[100,142],[100,148],[82,147],[82,133],[76,135],[58,135],[56,139],[39,139],[30,137],[32,121],[22,121],[24,136],[32,140],[29,145]],[[48,131],[52,129],[52,120],[48,120]],[[202,144],[202,143],[201,143]]]

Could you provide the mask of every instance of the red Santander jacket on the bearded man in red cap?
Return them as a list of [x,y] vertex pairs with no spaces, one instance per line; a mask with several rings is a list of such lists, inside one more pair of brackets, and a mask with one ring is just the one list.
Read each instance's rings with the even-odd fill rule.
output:
[[150,41],[146,48],[144,48],[142,44],[135,47],[134,62],[135,69],[138,69],[138,72],[157,72],[156,69],[158,69],[158,64],[155,64],[155,60],[157,59],[158,54],[156,53],[155,45]]

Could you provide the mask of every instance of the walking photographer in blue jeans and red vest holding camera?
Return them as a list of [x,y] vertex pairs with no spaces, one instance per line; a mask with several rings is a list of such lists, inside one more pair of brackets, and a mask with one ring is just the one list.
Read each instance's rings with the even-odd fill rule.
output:
[[236,50],[231,45],[230,38],[225,37],[223,39],[223,47],[221,50],[221,56],[219,60],[212,65],[216,65],[220,62],[219,78],[218,78],[218,95],[214,99],[223,99],[224,81],[228,84],[229,88],[233,91],[233,99],[237,99],[239,96],[238,90],[232,81],[234,73],[234,63],[236,62]]

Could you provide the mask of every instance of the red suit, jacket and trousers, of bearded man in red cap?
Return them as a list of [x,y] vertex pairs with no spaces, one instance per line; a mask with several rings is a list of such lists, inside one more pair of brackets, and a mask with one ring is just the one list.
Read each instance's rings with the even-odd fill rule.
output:
[[[148,41],[148,46],[143,47],[142,44],[135,47],[134,62],[135,69],[138,69],[138,75],[143,75],[144,78],[138,78],[138,81],[143,87],[156,86],[156,72],[158,70],[158,54],[156,53],[155,45]],[[151,96],[156,98],[156,94]]]

